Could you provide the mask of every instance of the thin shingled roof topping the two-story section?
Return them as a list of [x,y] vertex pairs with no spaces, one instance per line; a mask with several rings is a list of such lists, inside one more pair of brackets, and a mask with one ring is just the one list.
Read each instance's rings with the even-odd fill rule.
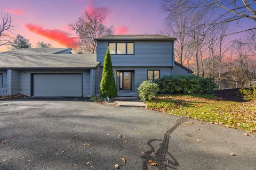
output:
[[176,40],[176,38],[163,35],[107,35],[95,38],[96,41],[104,40]]

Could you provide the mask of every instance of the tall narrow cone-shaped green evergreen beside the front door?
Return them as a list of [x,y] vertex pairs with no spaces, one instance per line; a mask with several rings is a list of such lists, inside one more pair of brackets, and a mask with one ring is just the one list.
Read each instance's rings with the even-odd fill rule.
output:
[[103,64],[102,79],[100,82],[100,95],[103,98],[113,98],[116,96],[116,93],[117,89],[112,68],[111,56],[109,53],[109,48],[107,48]]

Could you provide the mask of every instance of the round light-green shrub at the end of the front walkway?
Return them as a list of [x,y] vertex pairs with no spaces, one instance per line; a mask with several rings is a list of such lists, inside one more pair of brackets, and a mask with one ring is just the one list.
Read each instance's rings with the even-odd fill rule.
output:
[[139,98],[143,101],[152,100],[158,93],[158,84],[153,81],[143,81],[138,88]]

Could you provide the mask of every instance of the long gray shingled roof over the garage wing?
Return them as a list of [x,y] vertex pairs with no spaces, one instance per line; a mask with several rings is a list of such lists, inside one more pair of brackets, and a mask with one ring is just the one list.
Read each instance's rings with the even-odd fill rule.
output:
[[99,64],[96,54],[49,54],[28,49],[0,53],[0,69],[91,69]]

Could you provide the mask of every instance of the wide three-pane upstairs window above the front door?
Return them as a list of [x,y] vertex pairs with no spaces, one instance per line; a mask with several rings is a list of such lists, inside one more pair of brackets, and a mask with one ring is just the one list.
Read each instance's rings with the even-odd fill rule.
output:
[[109,43],[110,54],[134,54],[134,43]]

